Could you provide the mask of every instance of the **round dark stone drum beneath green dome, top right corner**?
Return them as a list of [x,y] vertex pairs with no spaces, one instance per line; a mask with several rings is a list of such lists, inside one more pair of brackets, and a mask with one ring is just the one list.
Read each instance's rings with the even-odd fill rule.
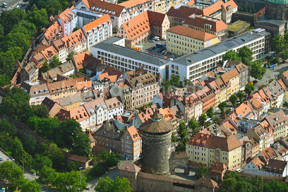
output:
[[288,0],[267,0],[265,16],[276,20],[288,20]]

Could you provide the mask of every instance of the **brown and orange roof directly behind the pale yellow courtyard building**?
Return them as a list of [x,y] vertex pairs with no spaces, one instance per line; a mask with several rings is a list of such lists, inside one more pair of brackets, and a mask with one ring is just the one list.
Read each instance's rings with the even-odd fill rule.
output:
[[205,28],[205,24],[211,25],[211,31],[219,32],[228,29],[228,26],[223,20],[212,18],[209,16],[199,15],[196,17],[188,17],[183,24],[191,25],[201,29]]

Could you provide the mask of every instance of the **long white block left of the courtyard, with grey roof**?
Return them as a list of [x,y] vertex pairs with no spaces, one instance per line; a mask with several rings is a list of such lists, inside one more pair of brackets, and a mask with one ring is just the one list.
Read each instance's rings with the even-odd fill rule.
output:
[[119,43],[121,42],[120,39],[123,39],[124,42],[123,37],[115,36],[100,42],[91,47],[91,53],[94,57],[101,58],[108,65],[123,72],[134,71],[143,65],[144,69],[153,75],[157,76],[160,73],[162,80],[167,78],[166,65],[168,65],[168,59],[124,47],[123,44]]

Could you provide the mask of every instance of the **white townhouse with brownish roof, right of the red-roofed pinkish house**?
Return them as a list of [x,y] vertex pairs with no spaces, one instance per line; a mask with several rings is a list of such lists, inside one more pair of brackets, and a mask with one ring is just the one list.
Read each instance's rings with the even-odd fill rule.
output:
[[91,131],[101,127],[103,122],[107,120],[108,111],[103,97],[98,97],[93,101],[84,103],[83,106],[90,118]]

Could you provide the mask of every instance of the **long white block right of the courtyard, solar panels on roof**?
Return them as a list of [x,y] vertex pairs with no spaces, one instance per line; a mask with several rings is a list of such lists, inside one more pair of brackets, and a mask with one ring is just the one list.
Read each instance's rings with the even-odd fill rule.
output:
[[184,86],[184,78],[191,79],[192,81],[201,78],[203,74],[215,69],[222,62],[222,55],[225,54],[226,50],[232,49],[238,52],[243,46],[248,46],[253,51],[254,60],[258,59],[264,55],[264,39],[266,35],[270,35],[270,33],[265,31],[257,35],[250,34],[250,32],[243,33],[169,61],[168,76],[179,75],[180,85]]

